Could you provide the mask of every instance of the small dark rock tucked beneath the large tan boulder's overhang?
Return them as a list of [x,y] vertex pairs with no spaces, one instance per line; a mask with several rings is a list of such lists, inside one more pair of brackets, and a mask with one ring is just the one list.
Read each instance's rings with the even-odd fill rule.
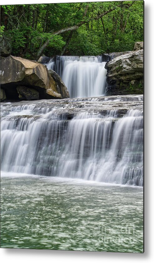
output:
[[39,92],[35,89],[17,86],[17,92],[19,93],[19,99],[26,99],[28,101],[39,100]]

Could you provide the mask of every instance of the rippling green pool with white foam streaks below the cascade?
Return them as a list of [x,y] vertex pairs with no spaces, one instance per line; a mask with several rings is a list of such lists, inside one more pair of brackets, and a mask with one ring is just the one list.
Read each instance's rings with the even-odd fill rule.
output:
[[143,252],[143,189],[1,177],[1,247]]

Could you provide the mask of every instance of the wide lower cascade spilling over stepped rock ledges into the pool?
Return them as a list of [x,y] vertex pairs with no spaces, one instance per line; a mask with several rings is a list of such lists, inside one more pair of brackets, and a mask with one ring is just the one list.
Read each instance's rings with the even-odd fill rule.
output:
[[1,103],[1,170],[143,185],[143,96]]

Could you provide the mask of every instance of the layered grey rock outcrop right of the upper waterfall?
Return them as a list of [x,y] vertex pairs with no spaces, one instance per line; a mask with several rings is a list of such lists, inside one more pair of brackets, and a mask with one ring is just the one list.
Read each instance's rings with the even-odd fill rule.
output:
[[118,56],[105,65],[107,95],[143,93],[143,49]]

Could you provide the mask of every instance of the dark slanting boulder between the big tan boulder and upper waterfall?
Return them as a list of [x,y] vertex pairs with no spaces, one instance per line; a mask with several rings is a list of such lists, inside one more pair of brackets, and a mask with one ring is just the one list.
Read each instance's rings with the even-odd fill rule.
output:
[[70,98],[68,89],[66,88],[64,82],[61,80],[60,76],[52,69],[48,70],[51,77],[55,80],[58,86],[58,92],[60,92],[63,98]]

